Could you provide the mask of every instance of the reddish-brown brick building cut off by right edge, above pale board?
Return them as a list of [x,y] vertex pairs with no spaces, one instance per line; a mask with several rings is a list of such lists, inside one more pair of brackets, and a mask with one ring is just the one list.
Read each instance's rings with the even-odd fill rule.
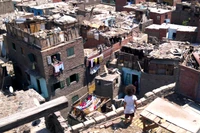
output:
[[185,60],[179,65],[180,69],[175,90],[194,101],[200,102],[199,47],[189,45],[189,48],[185,50],[185,53]]

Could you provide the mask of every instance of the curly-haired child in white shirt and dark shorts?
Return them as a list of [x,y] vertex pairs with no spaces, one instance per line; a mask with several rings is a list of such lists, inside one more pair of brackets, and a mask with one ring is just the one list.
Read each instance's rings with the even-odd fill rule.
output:
[[124,97],[124,114],[125,123],[128,123],[128,118],[130,117],[130,123],[132,123],[135,111],[137,109],[137,97],[135,96],[136,87],[134,85],[128,85],[125,88],[126,96]]

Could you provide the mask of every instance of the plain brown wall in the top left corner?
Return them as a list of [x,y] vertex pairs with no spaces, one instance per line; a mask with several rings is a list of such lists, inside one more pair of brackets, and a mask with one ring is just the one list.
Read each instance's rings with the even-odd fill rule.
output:
[[0,2],[0,14],[14,12],[14,6],[11,0]]

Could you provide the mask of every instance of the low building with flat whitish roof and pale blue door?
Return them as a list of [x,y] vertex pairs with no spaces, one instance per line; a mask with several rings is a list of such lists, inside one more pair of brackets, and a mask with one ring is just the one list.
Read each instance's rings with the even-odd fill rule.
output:
[[176,41],[196,42],[197,27],[165,23],[162,25],[153,24],[146,27],[145,33],[149,36],[155,36],[159,40],[167,38]]

